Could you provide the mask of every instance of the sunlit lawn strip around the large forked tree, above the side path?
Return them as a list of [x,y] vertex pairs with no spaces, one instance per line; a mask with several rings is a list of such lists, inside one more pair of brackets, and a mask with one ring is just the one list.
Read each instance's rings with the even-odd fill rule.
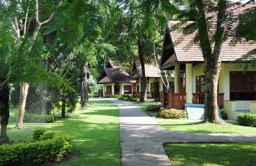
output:
[[[146,114],[147,106],[139,106]],[[231,122],[226,125],[218,125],[212,123],[201,122],[180,122],[179,120],[168,121],[168,119],[156,118],[158,124],[164,129],[176,132],[195,132],[195,133],[237,133],[237,134],[256,134],[256,127],[239,126],[237,123]]]

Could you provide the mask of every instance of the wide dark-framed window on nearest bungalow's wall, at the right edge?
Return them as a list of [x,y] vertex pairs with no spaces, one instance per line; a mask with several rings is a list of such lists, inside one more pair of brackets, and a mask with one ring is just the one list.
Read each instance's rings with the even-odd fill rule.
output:
[[230,100],[256,100],[256,72],[230,72]]

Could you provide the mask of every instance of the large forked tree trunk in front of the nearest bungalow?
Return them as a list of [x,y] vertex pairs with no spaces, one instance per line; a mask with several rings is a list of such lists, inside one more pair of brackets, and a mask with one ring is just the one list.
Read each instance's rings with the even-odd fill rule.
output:
[[[191,1],[192,2],[192,1]],[[203,4],[202,1],[200,1]],[[218,35],[215,36],[215,45],[212,52],[211,42],[207,32],[207,22],[205,19],[205,12],[203,8],[198,10],[200,18],[197,20],[198,33],[200,36],[200,47],[202,49],[204,57],[204,66],[206,71],[206,80],[205,80],[205,102],[204,102],[204,122],[216,122],[221,124],[219,113],[218,113],[218,104],[217,104],[217,89],[218,89],[218,79],[220,75],[220,64],[222,59],[222,48],[223,48],[223,34],[225,28],[223,18],[226,17],[227,11],[227,0],[220,0],[218,3],[218,21],[216,32]],[[196,8],[193,8],[197,10]],[[205,40],[205,36],[208,35]]]

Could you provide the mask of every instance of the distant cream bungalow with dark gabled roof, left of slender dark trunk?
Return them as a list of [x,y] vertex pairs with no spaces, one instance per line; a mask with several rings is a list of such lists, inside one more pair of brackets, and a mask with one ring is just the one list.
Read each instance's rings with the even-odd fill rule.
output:
[[[118,72],[117,68],[120,66],[115,66],[113,61],[108,61],[107,66],[102,70],[97,84],[103,84],[103,96],[132,94],[132,91],[136,91],[139,81],[131,79],[131,70]],[[100,93],[100,96],[102,95]]]

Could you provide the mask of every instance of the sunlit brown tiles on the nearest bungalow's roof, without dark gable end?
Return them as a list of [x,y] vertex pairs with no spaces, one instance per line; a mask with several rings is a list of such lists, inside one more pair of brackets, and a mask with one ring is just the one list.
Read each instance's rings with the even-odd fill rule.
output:
[[[248,4],[243,8],[238,8],[234,9],[232,15],[238,15],[239,13],[242,13],[245,9],[249,7],[254,7],[254,4]],[[232,9],[232,8],[231,8]],[[230,10],[230,9],[229,9]],[[213,16],[210,21],[212,22],[212,31],[214,31],[214,28],[216,28],[216,22],[217,22],[217,13],[206,13],[206,18]],[[172,28],[175,26],[177,23],[180,21],[170,21],[169,26]],[[192,43],[193,38],[195,37],[196,33],[198,30],[196,30],[193,34],[189,34],[187,36],[182,35],[182,28],[184,26],[187,26],[189,24],[193,23],[192,21],[185,23],[183,26],[181,26],[179,29],[174,30],[171,32],[172,38],[175,44],[175,49],[178,57],[178,63],[187,63],[187,62],[194,62],[194,61],[199,61],[199,62],[204,62],[203,54],[201,51],[201,48],[195,44],[191,44],[190,47],[188,48],[187,46]],[[234,30],[234,27],[233,27]],[[241,58],[243,55],[245,55],[248,51],[255,49],[255,44],[254,45],[249,45],[248,42],[244,42],[244,39],[242,39],[242,43],[238,43],[235,47],[232,47],[229,45],[229,42],[233,39],[234,37],[234,31],[233,33],[228,37],[228,40],[223,43],[223,51],[222,51],[222,62],[227,62],[227,61],[234,61],[238,58]],[[179,42],[180,43],[177,43]],[[164,56],[164,55],[163,55]],[[169,57],[169,59],[164,62],[164,65],[170,64],[176,60],[176,57],[172,55]]]

